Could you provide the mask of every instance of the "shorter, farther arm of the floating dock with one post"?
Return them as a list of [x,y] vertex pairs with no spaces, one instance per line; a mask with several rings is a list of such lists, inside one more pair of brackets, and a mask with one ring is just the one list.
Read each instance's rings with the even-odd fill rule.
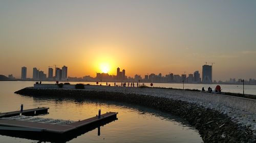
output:
[[36,116],[36,115],[48,113],[48,109],[49,109],[48,107],[38,107],[34,109],[3,112],[3,113],[0,113],[0,118],[12,117],[12,116],[18,116],[18,115]]

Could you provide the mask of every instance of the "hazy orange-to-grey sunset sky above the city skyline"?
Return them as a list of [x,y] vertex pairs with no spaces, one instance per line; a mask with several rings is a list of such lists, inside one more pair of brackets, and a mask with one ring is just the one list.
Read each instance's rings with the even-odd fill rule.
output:
[[256,78],[256,1],[0,1],[0,74],[68,66],[96,76],[199,70]]

